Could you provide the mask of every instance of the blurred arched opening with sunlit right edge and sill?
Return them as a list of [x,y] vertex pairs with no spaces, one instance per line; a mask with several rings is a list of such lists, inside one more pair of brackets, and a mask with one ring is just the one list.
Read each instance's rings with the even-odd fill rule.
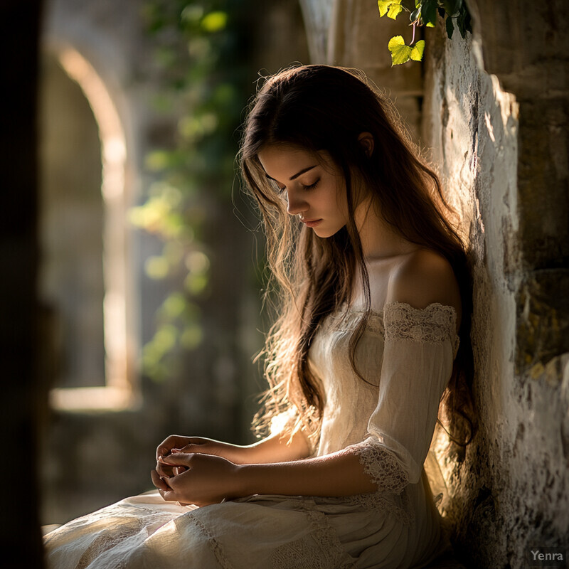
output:
[[105,84],[76,50],[46,53],[41,87],[40,296],[52,339],[50,405],[129,408],[124,131]]

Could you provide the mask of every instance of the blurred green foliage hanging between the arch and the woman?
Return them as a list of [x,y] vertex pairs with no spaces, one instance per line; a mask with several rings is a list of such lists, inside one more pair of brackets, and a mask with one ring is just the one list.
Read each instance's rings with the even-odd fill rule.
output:
[[130,221],[159,237],[161,255],[145,271],[180,283],[156,314],[156,333],[144,346],[144,373],[163,381],[180,350],[203,339],[199,301],[208,294],[210,259],[203,243],[208,202],[230,199],[235,177],[235,135],[245,106],[244,28],[247,1],[154,0],[144,6],[156,45],[161,87],[156,109],[179,117],[173,146],[152,151],[147,169],[157,180]]

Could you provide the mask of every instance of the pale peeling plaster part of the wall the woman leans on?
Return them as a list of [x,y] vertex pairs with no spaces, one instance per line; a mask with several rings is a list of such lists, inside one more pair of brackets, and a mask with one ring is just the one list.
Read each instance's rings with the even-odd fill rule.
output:
[[[433,161],[469,233],[480,421],[465,461],[442,461],[452,496],[445,513],[457,526],[460,550],[474,566],[521,567],[527,546],[560,546],[569,523],[559,436],[568,405],[560,390],[566,356],[555,353],[560,358],[551,361],[551,353],[540,352],[536,344],[555,329],[546,332],[548,324],[536,314],[543,310],[543,299],[522,292],[528,273],[520,252],[524,197],[519,173],[526,117],[499,78],[480,67],[477,41],[447,41],[437,29],[428,45],[423,139],[433,149]],[[532,162],[528,166],[538,167],[535,158]],[[541,193],[542,187],[534,191]],[[526,307],[520,307],[520,294],[526,294]],[[533,346],[521,337],[520,329],[528,325]],[[523,363],[526,372],[521,351],[531,354]],[[537,362],[549,366],[548,378],[543,368],[531,379]]]

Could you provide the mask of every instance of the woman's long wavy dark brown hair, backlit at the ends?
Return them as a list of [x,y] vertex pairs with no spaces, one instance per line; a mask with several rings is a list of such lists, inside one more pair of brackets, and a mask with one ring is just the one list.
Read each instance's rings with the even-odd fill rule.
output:
[[[362,132],[373,136],[371,156],[358,142]],[[296,216],[288,215],[258,158],[262,148],[272,144],[329,153],[346,182],[349,222],[344,228],[329,238],[319,238],[301,226]],[[443,255],[457,277],[462,297],[461,341],[440,415],[450,426],[452,440],[466,443],[474,434],[469,342],[472,290],[467,255],[447,218],[453,211],[437,175],[420,159],[389,103],[356,70],[328,65],[284,70],[267,78],[252,101],[240,165],[262,213],[267,260],[280,297],[263,353],[270,388],[257,414],[257,430],[267,427],[275,415],[292,410],[295,428],[317,437],[324,403],[321,385],[309,367],[309,347],[322,319],[349,301],[356,270],[366,311],[351,336],[349,354],[352,368],[361,377],[354,354],[371,314],[371,299],[354,221],[357,181],[369,188],[386,223],[406,240]]]

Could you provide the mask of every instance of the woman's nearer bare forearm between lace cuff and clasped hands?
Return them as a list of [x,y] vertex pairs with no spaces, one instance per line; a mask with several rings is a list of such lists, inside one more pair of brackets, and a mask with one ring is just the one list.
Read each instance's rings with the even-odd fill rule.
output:
[[243,464],[236,484],[239,496],[351,496],[377,489],[358,456],[346,452],[294,462]]

